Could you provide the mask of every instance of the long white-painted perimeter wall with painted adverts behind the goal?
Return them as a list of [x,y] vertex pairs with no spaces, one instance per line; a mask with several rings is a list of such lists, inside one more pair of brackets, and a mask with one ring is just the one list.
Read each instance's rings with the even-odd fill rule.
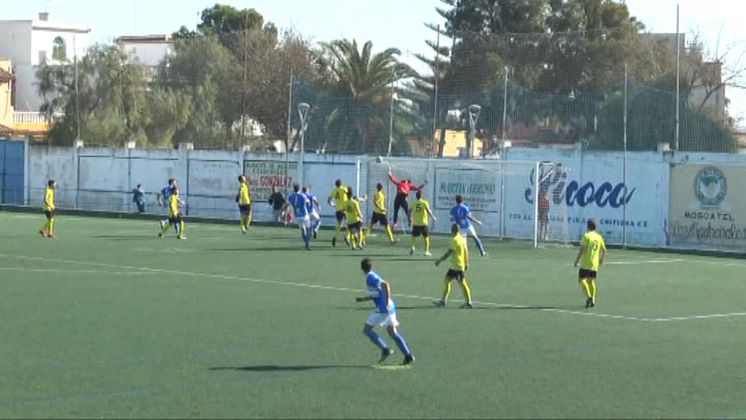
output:
[[[168,178],[178,180],[181,195],[190,216],[237,219],[234,201],[236,177],[243,173],[245,161],[284,162],[281,154],[243,153],[239,151],[127,150],[98,148],[53,148],[30,146],[27,156],[26,188],[29,204],[40,205],[42,191],[49,178],[59,183],[60,207],[91,210],[133,211],[131,189],[143,184],[149,212],[162,212],[155,205],[155,193]],[[334,222],[334,209],[326,204],[334,180],[359,188],[359,195],[372,195],[376,182],[386,182],[387,164],[376,164],[367,157],[306,155],[304,183],[322,203],[323,222]],[[297,162],[297,155],[290,161]],[[621,243],[626,230],[629,244],[666,246],[669,213],[669,174],[672,163],[729,163],[746,165],[745,155],[680,154],[676,158],[657,153],[628,154],[626,215],[621,205],[623,159],[619,152],[556,151],[512,149],[507,163],[500,161],[396,159],[395,172],[411,177],[415,183],[428,181],[425,195],[438,221],[434,230],[449,229],[448,208],[453,194],[442,188],[459,182],[487,186],[481,196],[465,194],[467,201],[481,200],[473,206],[475,215],[485,222],[481,232],[487,235],[531,238],[533,235],[533,168],[536,161],[562,164],[563,177],[549,186],[552,215],[566,223],[569,239],[576,240],[588,218],[595,218],[610,243]],[[505,168],[510,168],[505,170]],[[501,170],[504,177],[501,178]],[[436,176],[437,175],[437,176]],[[297,174],[293,175],[298,176]],[[464,181],[466,180],[466,181]],[[470,181],[471,180],[471,181]],[[476,180],[476,181],[474,181]],[[291,180],[295,182],[296,180]],[[444,184],[445,183],[445,184]],[[500,193],[501,183],[504,185]],[[495,188],[489,188],[493,184]],[[389,208],[394,189],[388,187]],[[493,197],[494,196],[494,197]],[[410,200],[413,200],[411,197]],[[370,214],[370,204],[364,211]],[[254,203],[255,220],[270,220],[266,202]]]

